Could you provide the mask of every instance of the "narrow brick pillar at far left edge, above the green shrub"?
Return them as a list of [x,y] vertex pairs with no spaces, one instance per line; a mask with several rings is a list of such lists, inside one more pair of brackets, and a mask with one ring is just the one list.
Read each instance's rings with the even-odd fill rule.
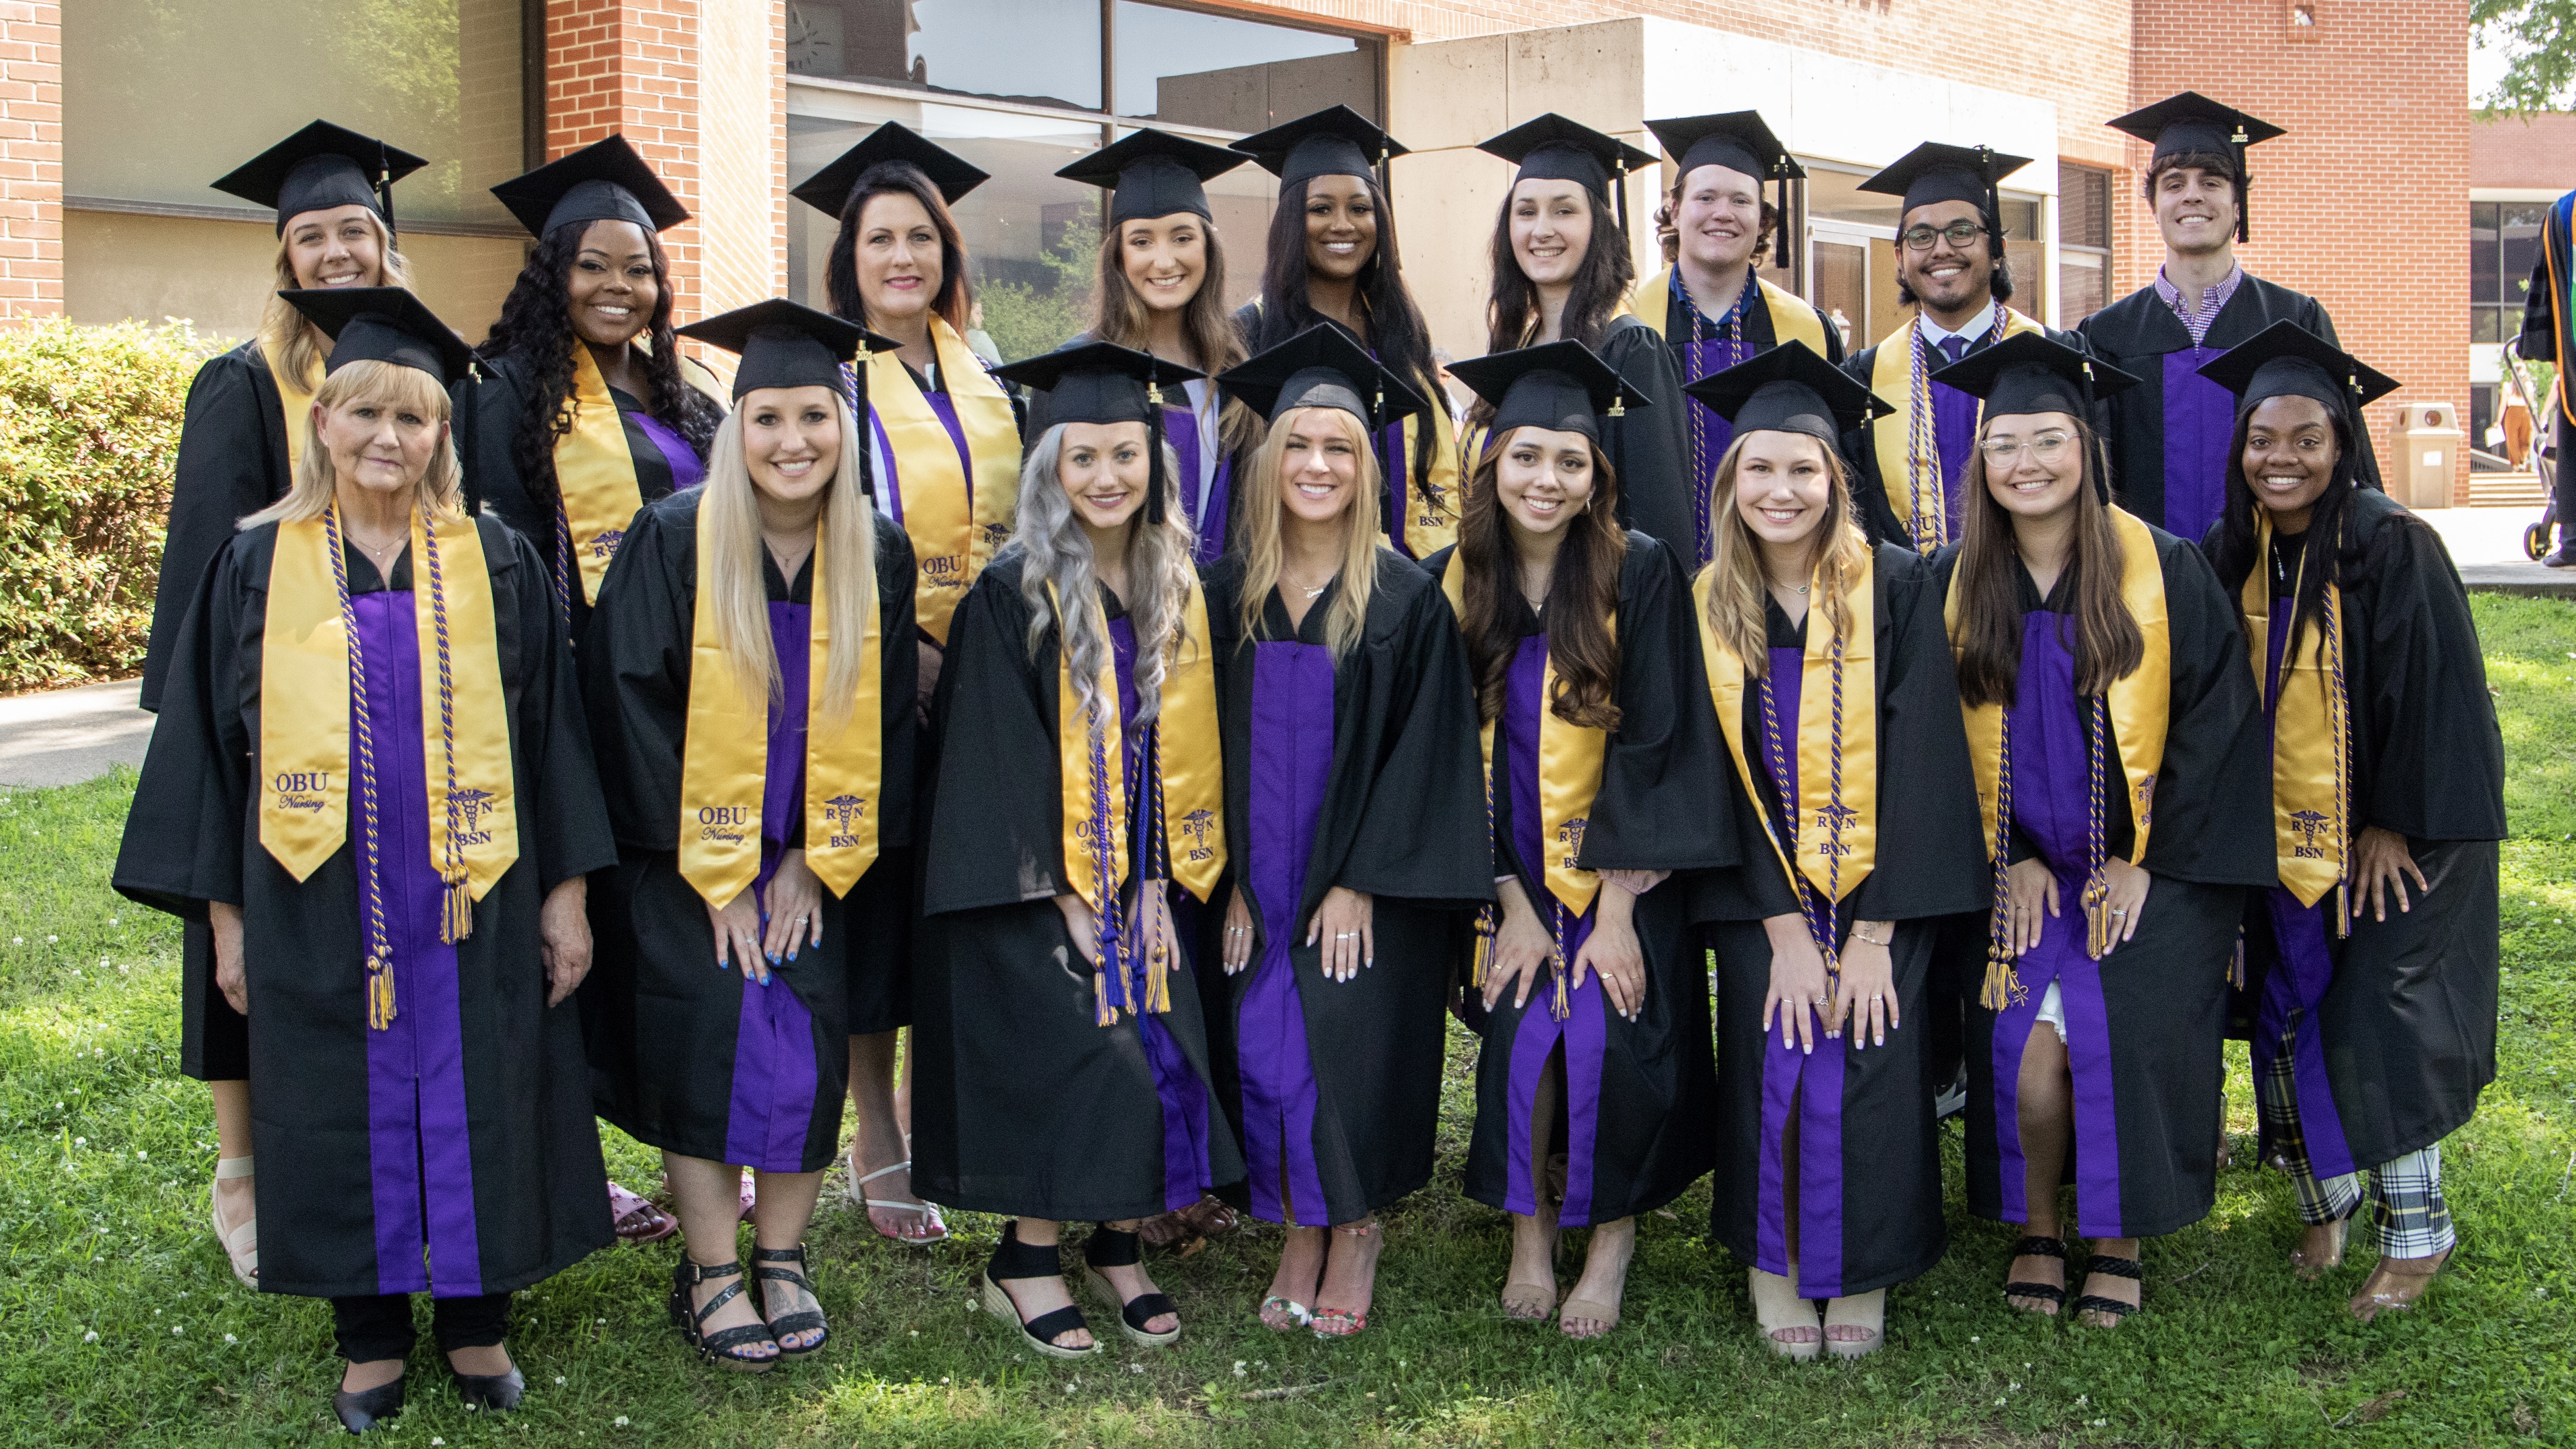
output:
[[0,0],[0,327],[62,317],[62,5]]

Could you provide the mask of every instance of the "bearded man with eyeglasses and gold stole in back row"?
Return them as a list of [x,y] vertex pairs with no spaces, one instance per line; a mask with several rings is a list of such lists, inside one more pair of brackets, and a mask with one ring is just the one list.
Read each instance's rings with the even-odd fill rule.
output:
[[1914,317],[1842,371],[1875,391],[1893,414],[1862,427],[1844,456],[1855,458],[1852,504],[1878,543],[1932,553],[1960,533],[1960,484],[1976,450],[1978,401],[1932,373],[2017,332],[2043,332],[2081,347],[2074,332],[2048,332],[2004,306],[2012,265],[2004,260],[1999,185],[2030,165],[1994,147],[1924,142],[1860,190],[1901,196],[1896,221],[1896,299]]

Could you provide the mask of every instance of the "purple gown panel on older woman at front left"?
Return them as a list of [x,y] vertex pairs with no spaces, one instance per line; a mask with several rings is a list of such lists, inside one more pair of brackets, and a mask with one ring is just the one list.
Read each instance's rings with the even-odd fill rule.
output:
[[[355,595],[358,659],[376,757],[376,806],[350,800],[350,844],[376,831],[394,1019],[366,1032],[366,1138],[376,1210],[376,1292],[482,1295],[474,1225],[464,1014],[456,947],[438,939],[446,883],[430,865],[430,782],[420,734],[420,625],[412,595]],[[355,723],[353,723],[355,739]],[[355,852],[366,891],[366,852]],[[363,906],[361,906],[363,909]],[[289,1168],[291,1171],[291,1168]]]

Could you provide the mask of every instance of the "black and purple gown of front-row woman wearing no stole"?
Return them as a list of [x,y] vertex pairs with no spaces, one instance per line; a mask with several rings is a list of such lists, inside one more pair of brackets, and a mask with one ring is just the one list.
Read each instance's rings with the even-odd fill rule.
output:
[[[1494,898],[1492,857],[1458,849],[1484,836],[1484,785],[1476,687],[1440,584],[1381,548],[1368,631],[1334,661],[1340,597],[1327,584],[1291,625],[1273,589],[1247,636],[1242,556],[1208,574],[1226,860],[1252,906],[1252,965],[1200,975],[1224,1004],[1208,1053],[1257,1163],[1234,1197],[1306,1228],[1358,1223],[1430,1181],[1450,950],[1461,911]],[[1327,942],[1306,945],[1332,885],[1370,896],[1376,965],[1350,981],[1324,981]],[[1213,963],[1224,911],[1206,919]]]

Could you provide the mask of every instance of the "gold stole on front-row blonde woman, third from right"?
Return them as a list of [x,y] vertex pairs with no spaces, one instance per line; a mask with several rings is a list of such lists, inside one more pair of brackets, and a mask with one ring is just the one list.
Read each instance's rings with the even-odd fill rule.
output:
[[[1770,813],[1762,816],[1765,831],[1772,836],[1772,854],[1780,857],[1790,885],[1798,885],[1803,875],[1834,906],[1878,867],[1878,664],[1873,659],[1878,618],[1870,584],[1875,571],[1878,561],[1873,558],[1852,592],[1844,595],[1852,633],[1842,641],[1839,682],[1834,679],[1834,628],[1821,615],[1824,595],[1816,595],[1806,610],[1806,661],[1798,667],[1793,739],[1798,741],[1798,816],[1811,818],[1814,826],[1795,829],[1795,865],[1790,865],[1777,831],[1770,831]],[[1744,749],[1744,690],[1752,687],[1752,679],[1744,659],[1736,659],[1718,631],[1708,628],[1708,595],[1716,582],[1713,566],[1700,569],[1700,582],[1690,592],[1700,620],[1700,659],[1708,664],[1708,697],[1718,708],[1718,726],[1726,731],[1726,752],[1736,762],[1736,777],[1759,800],[1762,782],[1754,775],[1754,757]],[[1832,942],[1824,942],[1824,950],[1832,957]]]

